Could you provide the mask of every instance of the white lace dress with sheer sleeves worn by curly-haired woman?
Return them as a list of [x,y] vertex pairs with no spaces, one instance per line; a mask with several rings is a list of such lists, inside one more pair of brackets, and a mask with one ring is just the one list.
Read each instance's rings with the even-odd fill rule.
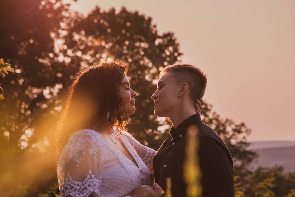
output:
[[140,144],[126,131],[120,138],[137,166],[97,131],[74,132],[58,161],[61,197],[88,197],[90,194],[121,197],[142,184],[147,185],[156,151]]

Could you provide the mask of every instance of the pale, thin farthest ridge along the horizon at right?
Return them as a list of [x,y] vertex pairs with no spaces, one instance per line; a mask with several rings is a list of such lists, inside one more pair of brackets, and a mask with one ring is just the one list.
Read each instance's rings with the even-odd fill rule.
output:
[[295,141],[256,141],[250,142],[249,149],[277,148],[295,146]]

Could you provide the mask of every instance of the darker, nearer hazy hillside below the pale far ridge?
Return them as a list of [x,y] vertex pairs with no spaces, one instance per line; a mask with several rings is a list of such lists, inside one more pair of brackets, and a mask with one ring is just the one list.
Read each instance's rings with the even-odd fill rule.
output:
[[256,163],[253,162],[252,167],[273,167],[277,164],[283,166],[286,172],[295,171],[295,145],[289,146],[291,143],[287,144],[288,146],[285,147],[261,148],[262,146],[258,146],[259,149],[252,149],[259,155],[258,161]]

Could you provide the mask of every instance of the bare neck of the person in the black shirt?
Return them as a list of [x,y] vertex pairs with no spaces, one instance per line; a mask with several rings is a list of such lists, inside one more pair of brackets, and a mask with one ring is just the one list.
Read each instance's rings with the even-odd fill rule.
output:
[[182,103],[168,116],[173,127],[176,129],[185,119],[196,114],[194,105],[191,103]]

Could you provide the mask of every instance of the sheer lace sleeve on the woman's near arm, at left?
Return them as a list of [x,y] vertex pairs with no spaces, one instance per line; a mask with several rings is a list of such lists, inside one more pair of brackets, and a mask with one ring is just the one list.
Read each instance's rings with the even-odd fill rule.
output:
[[61,152],[57,176],[61,197],[100,196],[100,151],[95,134],[74,133]]

